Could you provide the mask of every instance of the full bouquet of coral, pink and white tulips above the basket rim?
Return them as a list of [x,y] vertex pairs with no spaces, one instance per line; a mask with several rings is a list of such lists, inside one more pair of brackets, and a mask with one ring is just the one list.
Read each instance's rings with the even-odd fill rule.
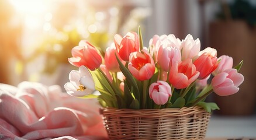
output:
[[82,40],[72,48],[70,82],[67,93],[84,98],[98,98],[103,107],[114,108],[182,108],[202,106],[206,111],[219,109],[206,103],[210,93],[228,96],[237,93],[244,81],[233,67],[233,58],[217,58],[214,48],[200,51],[200,40],[191,34],[179,40],[174,34],[155,35],[143,46],[139,33],[116,34],[106,48]]

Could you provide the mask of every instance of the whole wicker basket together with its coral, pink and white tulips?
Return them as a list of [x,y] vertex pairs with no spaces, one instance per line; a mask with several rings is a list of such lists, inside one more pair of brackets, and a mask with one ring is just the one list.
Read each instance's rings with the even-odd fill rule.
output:
[[203,139],[219,109],[205,98],[232,95],[244,81],[243,61],[232,68],[214,48],[200,51],[191,34],[155,35],[147,48],[139,29],[113,42],[104,56],[85,40],[72,48],[68,61],[79,70],[64,85],[72,96],[98,98],[110,139]]

